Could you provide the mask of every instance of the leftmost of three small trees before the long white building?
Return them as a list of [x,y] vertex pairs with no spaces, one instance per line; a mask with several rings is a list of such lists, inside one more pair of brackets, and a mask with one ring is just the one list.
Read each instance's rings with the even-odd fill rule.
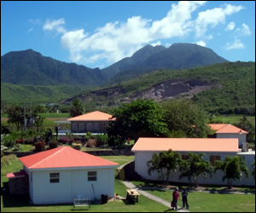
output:
[[[157,171],[161,174],[163,183],[169,185],[171,171],[173,170],[176,172],[180,160],[180,153],[175,153],[172,150],[161,152],[159,154],[154,153],[153,158],[148,161],[148,174],[151,175],[152,171]],[[166,174],[164,172],[165,170]]]

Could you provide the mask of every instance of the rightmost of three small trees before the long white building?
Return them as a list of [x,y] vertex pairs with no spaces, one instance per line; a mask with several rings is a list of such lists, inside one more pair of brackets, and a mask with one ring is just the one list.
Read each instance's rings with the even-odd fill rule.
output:
[[244,172],[246,176],[249,175],[244,160],[239,156],[234,156],[233,158],[227,156],[224,158],[224,161],[217,160],[215,162],[214,171],[216,172],[217,170],[224,171],[223,181],[225,179],[228,180],[229,188],[233,186],[233,180],[241,180],[242,172]]

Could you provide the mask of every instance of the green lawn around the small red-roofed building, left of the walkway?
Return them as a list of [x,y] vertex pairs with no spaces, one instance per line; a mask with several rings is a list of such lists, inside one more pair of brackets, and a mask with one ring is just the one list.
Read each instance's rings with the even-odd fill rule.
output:
[[[133,156],[102,156],[112,160],[118,164],[126,164],[133,160]],[[52,204],[52,205],[33,205],[29,204],[28,199],[23,196],[12,196],[7,191],[3,191],[3,186],[6,187],[8,178],[6,174],[9,172],[19,171],[22,168],[20,161],[16,160],[11,165],[1,169],[1,212],[81,212],[83,209],[73,210],[72,204]],[[115,180],[115,193],[125,197],[125,185]],[[76,207],[77,208],[77,207]],[[90,210],[92,212],[164,212],[168,208],[162,204],[152,201],[144,196],[139,197],[139,202],[136,204],[127,204],[125,201],[117,200],[108,202],[107,204],[92,204]],[[87,211],[87,210],[86,210]]]

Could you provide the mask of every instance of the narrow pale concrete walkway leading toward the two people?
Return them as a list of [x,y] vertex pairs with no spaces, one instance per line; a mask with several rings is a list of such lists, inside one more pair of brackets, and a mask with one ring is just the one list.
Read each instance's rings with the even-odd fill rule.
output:
[[[153,199],[156,202],[159,202],[160,204],[166,205],[168,208],[171,208],[171,202],[166,201],[165,199],[160,199],[159,197],[154,196],[151,193],[147,193],[143,190],[138,189],[138,187],[134,186],[130,181],[123,181],[126,187],[128,188],[134,188],[137,190],[138,193],[143,194],[148,199]],[[189,210],[183,210],[180,206],[177,206],[177,212],[189,212]]]

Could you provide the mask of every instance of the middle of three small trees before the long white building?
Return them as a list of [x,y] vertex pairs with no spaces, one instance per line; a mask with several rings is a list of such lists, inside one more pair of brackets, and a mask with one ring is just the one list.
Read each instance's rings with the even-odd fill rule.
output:
[[179,179],[188,177],[189,181],[191,181],[192,178],[194,186],[198,187],[198,177],[200,175],[204,175],[206,177],[208,173],[212,176],[212,164],[209,161],[204,160],[202,158],[203,156],[203,153],[189,153],[189,158],[183,160],[180,164],[181,175],[179,176]]

